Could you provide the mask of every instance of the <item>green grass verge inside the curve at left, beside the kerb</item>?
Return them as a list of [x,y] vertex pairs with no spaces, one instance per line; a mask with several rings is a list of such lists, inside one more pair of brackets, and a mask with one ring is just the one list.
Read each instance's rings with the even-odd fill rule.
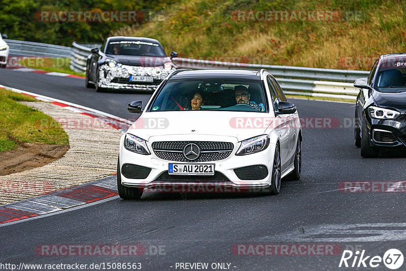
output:
[[0,152],[12,150],[22,143],[69,145],[69,137],[60,125],[42,125],[56,123],[54,119],[19,101],[38,100],[0,88]]

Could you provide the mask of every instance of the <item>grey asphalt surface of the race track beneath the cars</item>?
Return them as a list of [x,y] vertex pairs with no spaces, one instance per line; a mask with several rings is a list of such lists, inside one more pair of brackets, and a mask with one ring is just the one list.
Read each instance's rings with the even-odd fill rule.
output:
[[[134,117],[126,112],[129,101],[147,101],[149,97],[139,93],[96,93],[84,87],[83,79],[7,69],[0,70],[0,84],[125,118]],[[360,157],[360,150],[353,144],[353,104],[291,100],[301,118],[331,118],[339,125],[303,127],[301,179],[283,182],[278,196],[155,192],[145,194],[139,201],[113,197],[0,227],[1,263],[141,262],[142,270],[180,270],[177,263],[207,262],[210,267],[212,263],[224,262],[230,263],[230,270],[343,270],[355,269],[339,267],[345,249],[365,250],[365,256],[383,257],[391,248],[406,253],[405,193],[339,190],[340,182],[405,181],[406,159]],[[37,246],[54,244],[140,244],[147,253],[36,253]],[[232,250],[238,244],[330,244],[341,250],[335,255],[238,255]],[[161,255],[155,253],[159,246],[164,249]],[[350,265],[353,259],[348,261]],[[404,267],[403,263],[400,269]],[[382,262],[376,269],[388,270]]]

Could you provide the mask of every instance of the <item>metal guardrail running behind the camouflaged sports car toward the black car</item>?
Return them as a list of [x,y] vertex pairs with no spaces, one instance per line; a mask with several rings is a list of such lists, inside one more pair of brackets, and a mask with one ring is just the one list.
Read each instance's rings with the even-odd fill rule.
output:
[[[95,45],[72,44],[71,69],[75,72],[86,71],[86,57],[90,54],[90,47]],[[234,63],[210,61],[190,58],[174,58],[179,68],[194,70],[204,69],[266,69],[274,75],[286,94],[355,100],[359,92],[353,86],[355,79],[367,77],[367,71],[332,70],[310,67],[261,65],[249,63]]]

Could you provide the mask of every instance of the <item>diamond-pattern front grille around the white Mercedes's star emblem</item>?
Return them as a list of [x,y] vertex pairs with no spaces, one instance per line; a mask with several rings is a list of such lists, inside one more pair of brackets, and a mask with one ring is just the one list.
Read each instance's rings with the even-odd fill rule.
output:
[[[194,143],[200,149],[196,160],[189,160],[183,155],[186,145]],[[179,162],[208,162],[227,158],[234,148],[231,142],[210,141],[162,141],[152,143],[152,149],[160,159]]]

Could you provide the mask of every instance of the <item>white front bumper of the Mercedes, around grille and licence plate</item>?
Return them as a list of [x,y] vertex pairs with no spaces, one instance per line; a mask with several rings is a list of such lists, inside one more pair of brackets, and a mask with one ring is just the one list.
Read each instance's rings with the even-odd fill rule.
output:
[[[194,185],[213,185],[232,188],[252,188],[252,187],[267,187],[270,185],[272,179],[272,166],[273,160],[269,157],[274,157],[275,145],[269,144],[269,146],[261,152],[253,153],[245,156],[235,156],[235,152],[240,147],[240,143],[233,137],[219,137],[199,135],[197,137],[187,137],[185,139],[179,139],[179,136],[165,136],[161,139],[155,139],[154,141],[212,141],[212,142],[232,142],[234,148],[231,154],[222,160],[207,161],[207,162],[180,162],[160,159],[155,155],[152,150],[152,142],[148,142],[148,148],[151,155],[137,154],[128,151],[123,146],[125,134],[120,141],[120,168],[125,164],[136,164],[142,167],[150,168],[149,174],[145,179],[130,179],[126,178],[121,171],[121,182],[124,186],[128,187],[143,187],[143,188],[156,188],[165,186],[194,186]],[[185,164],[215,164],[215,176],[178,176],[168,175],[169,163],[185,163]],[[247,168],[248,166],[261,166],[264,172],[258,180],[258,176],[254,180],[246,180],[249,178],[238,177],[238,173],[234,172],[234,169]],[[265,170],[266,168],[266,170]],[[242,175],[239,175],[240,177]],[[145,177],[145,176],[144,176]]]

